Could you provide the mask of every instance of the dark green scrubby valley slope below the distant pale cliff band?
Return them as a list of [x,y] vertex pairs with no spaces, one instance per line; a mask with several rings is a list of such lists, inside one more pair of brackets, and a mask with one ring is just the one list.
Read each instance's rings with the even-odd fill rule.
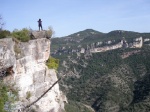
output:
[[[138,52],[137,52],[138,51]],[[132,53],[126,58],[123,54]],[[72,101],[96,112],[147,112],[150,105],[150,47],[103,53],[60,55],[61,89]]]

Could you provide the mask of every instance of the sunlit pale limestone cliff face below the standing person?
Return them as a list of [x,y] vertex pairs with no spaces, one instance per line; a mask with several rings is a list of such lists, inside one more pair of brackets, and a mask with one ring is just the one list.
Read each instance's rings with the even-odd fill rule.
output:
[[[12,38],[0,40],[1,75],[3,71],[11,68],[11,75],[4,80],[14,84],[19,93],[19,101],[16,102],[14,111],[35,101],[57,81],[55,70],[48,69],[45,65],[49,54],[50,40],[46,38],[19,43]],[[61,112],[64,109],[63,98],[65,96],[56,84],[31,108],[38,112]]]

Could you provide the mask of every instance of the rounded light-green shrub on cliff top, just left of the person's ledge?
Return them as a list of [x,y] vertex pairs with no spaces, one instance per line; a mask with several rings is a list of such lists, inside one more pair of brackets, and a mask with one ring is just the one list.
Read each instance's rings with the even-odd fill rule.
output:
[[22,30],[14,30],[12,36],[22,42],[27,42],[30,40],[30,31],[26,28],[23,28]]

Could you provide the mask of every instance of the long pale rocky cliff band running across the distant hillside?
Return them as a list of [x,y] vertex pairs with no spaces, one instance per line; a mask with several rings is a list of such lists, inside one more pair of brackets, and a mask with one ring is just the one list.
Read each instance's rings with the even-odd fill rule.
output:
[[[82,47],[82,45],[78,45],[77,48],[71,48],[67,49],[66,47],[61,47],[55,52],[52,53],[52,55],[61,55],[61,54],[73,54],[77,53],[77,55],[81,54],[89,54],[89,53],[98,53],[98,52],[106,52],[109,50],[119,49],[119,48],[141,48],[144,44],[144,42],[148,42],[150,39],[146,38],[143,39],[143,37],[135,38],[133,39],[133,42],[128,43],[127,40],[123,37],[120,42],[115,42],[115,40],[108,40],[106,42],[95,42],[91,43],[90,45],[87,44],[87,47]],[[104,45],[102,45],[104,44]]]

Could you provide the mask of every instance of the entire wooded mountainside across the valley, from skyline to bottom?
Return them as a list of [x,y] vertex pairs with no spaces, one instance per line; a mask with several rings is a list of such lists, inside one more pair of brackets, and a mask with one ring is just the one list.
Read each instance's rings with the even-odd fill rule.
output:
[[[60,87],[72,102],[69,109],[75,106],[72,111],[78,111],[81,103],[95,112],[148,112],[150,33],[91,32],[52,39],[51,49],[57,51],[52,56],[60,60],[59,76],[66,74]],[[138,44],[142,46],[134,46]],[[120,45],[91,52],[92,47],[101,50]]]

